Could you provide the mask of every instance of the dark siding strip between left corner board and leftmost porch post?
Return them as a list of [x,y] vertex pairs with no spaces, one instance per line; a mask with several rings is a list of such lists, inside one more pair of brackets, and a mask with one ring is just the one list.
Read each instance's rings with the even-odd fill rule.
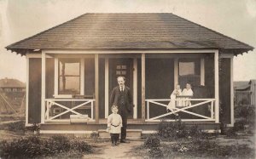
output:
[[41,59],[29,60],[28,123],[41,121]]

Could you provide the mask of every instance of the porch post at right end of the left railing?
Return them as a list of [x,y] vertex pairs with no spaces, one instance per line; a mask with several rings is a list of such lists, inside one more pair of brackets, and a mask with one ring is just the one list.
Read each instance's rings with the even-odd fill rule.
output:
[[95,54],[95,120],[99,123],[99,54]]

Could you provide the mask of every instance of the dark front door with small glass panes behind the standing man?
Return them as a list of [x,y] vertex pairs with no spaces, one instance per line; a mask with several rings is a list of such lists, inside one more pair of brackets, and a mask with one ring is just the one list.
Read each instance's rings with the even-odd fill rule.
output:
[[[133,59],[109,59],[109,97],[114,87],[118,86],[117,77],[125,77],[125,86],[133,93]],[[111,107],[111,106],[109,106]],[[109,111],[111,112],[111,111]],[[129,118],[132,118],[132,112]]]

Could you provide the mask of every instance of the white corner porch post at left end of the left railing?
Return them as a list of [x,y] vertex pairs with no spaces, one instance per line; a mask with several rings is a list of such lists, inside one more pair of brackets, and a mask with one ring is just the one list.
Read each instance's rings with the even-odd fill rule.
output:
[[41,90],[41,123],[44,123],[45,114],[45,65],[46,65],[46,54],[42,50],[42,90]]

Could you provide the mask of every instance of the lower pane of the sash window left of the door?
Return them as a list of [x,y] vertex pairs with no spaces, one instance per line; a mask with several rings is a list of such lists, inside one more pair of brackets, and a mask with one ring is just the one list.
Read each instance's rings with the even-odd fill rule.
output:
[[60,77],[59,94],[80,94],[80,77]]

